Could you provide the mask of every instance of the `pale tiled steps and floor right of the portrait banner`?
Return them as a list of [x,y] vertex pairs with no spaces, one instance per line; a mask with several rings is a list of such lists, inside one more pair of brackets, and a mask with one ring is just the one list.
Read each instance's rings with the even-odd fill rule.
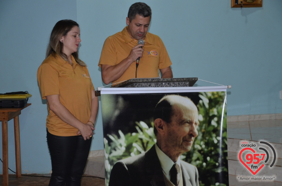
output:
[[[239,121],[227,122],[227,135],[228,135],[228,164],[229,164],[229,185],[232,186],[262,186],[262,185],[282,185],[282,120],[252,120],[252,121]],[[260,141],[270,144],[276,154],[275,163],[272,167],[270,165],[274,161],[274,153],[270,146],[260,143]],[[258,161],[254,164],[255,160],[246,164],[246,166],[256,165],[260,168],[263,167],[255,174],[251,173],[243,163],[239,160],[239,153],[242,151],[241,159],[246,162],[246,155],[251,156],[254,152],[251,150],[242,150],[247,146],[242,147],[242,143],[248,142],[249,145],[253,144],[256,147],[251,147],[255,153],[265,153],[264,148],[269,153],[268,161],[265,163],[266,156],[263,161]],[[244,145],[244,144],[243,144]],[[248,157],[251,157],[248,156]],[[258,156],[262,158],[262,156]],[[250,160],[248,160],[250,161]],[[251,169],[256,171],[257,169]],[[265,179],[265,180],[263,180]],[[271,180],[268,180],[271,179]]]

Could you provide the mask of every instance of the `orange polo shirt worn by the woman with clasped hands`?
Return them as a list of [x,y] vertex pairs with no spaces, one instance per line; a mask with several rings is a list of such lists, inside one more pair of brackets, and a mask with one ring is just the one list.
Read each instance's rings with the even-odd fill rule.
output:
[[[73,67],[62,58],[47,57],[39,66],[37,80],[42,99],[59,95],[60,102],[78,120],[87,123],[91,114],[91,91],[94,86],[86,66],[80,66],[72,56]],[[48,132],[56,136],[76,136],[78,129],[63,122],[47,103]]]

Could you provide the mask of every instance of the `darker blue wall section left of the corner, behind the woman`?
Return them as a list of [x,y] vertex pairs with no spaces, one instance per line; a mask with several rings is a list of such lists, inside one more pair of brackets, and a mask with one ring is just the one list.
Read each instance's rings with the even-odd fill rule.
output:
[[[41,100],[36,73],[45,59],[51,31],[61,19],[77,21],[76,0],[0,0],[0,92],[28,91],[32,95],[31,106],[19,116],[23,174],[52,169],[46,140],[47,105]],[[13,120],[8,121],[8,143],[9,168],[16,171]],[[9,170],[9,174],[14,173]]]

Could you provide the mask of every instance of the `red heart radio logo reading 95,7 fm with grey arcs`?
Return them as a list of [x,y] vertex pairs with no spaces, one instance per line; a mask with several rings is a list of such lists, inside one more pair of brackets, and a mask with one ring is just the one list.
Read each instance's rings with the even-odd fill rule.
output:
[[[244,147],[239,153],[240,162],[253,174],[256,175],[264,166],[271,163],[272,167],[276,160],[276,152],[271,144],[260,141],[260,144],[248,144],[242,141],[241,146]],[[257,149],[259,147],[259,149]],[[269,154],[273,154],[273,161],[268,162]],[[267,163],[267,164],[266,164]]]

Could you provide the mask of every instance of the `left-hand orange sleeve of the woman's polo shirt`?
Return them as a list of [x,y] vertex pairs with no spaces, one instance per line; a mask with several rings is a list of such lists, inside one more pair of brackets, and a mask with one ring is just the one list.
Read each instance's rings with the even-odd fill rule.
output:
[[48,63],[43,63],[38,68],[37,80],[42,99],[46,99],[47,95],[60,94],[58,74],[58,70]]

